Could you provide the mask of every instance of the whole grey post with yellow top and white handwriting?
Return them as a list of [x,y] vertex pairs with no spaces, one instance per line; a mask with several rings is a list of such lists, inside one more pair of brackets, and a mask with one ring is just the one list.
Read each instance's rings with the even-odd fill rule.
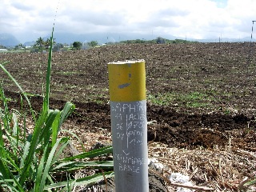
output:
[[148,192],[145,61],[108,63],[117,192]]

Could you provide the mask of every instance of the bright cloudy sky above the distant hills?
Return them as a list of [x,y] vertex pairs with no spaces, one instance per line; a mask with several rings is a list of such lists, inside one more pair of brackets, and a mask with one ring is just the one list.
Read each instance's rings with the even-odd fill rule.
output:
[[54,19],[55,32],[154,38],[250,37],[256,20],[256,0],[0,0],[0,5],[0,34],[14,34],[21,42],[50,34]]

